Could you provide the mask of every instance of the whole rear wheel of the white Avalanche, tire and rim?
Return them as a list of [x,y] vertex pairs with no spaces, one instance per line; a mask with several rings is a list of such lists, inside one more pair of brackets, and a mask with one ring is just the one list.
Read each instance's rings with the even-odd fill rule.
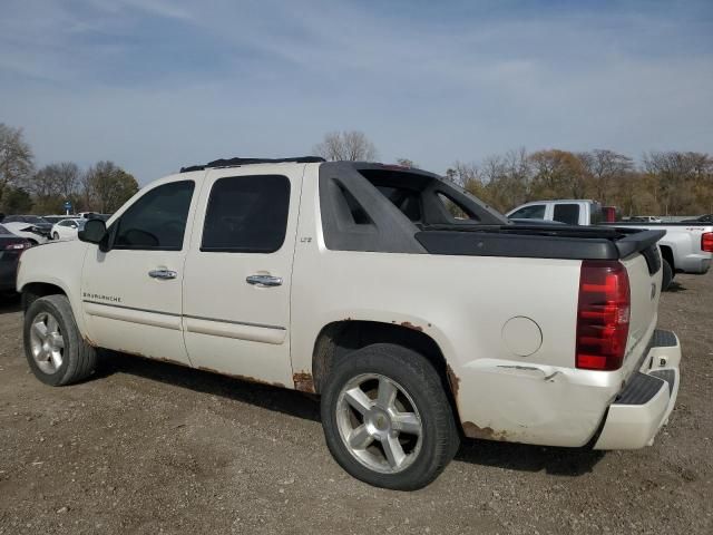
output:
[[388,343],[354,351],[335,366],[322,392],[322,426],[342,468],[370,485],[399,490],[436,479],[459,445],[433,366]]

